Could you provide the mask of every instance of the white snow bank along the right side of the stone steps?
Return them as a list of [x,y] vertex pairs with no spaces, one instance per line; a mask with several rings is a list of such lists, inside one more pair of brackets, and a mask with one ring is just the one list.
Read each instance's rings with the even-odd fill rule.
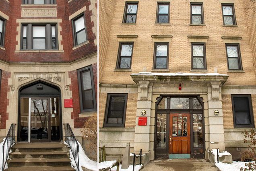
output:
[[[68,145],[68,143],[66,143],[66,142],[64,142],[64,144]],[[82,166],[87,168],[87,169],[89,169],[89,170],[92,170],[92,171],[98,171],[97,162],[96,161],[92,161],[91,159],[89,159],[89,157],[87,157],[87,155],[85,155],[85,151],[84,151],[84,149],[82,148],[82,146],[81,146],[81,144],[79,142],[78,142],[78,145],[79,145],[78,156],[79,156],[80,171],[83,170]],[[69,153],[70,153],[70,160],[71,160],[70,163],[71,163],[72,167],[74,167],[74,169],[77,170],[76,163],[74,161],[74,157],[72,155],[71,150],[69,150]]]

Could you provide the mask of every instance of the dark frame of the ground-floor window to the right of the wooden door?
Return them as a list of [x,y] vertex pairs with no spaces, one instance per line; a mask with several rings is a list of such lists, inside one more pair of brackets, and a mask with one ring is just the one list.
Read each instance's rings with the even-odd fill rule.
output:
[[[247,124],[247,125],[237,125],[235,124],[235,106],[234,106],[234,98],[236,97],[247,97],[248,98],[248,106],[249,106],[249,116],[250,116],[250,121],[251,124]],[[251,95],[231,95],[231,101],[232,101],[232,113],[233,113],[233,124],[234,124],[234,128],[255,128],[254,126],[254,115],[253,115],[253,108],[252,108],[252,97]]]

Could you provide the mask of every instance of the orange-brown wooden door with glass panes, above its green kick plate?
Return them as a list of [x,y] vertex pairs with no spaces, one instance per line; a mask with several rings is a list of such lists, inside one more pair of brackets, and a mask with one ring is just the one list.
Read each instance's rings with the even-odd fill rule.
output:
[[169,154],[190,154],[190,113],[170,113]]

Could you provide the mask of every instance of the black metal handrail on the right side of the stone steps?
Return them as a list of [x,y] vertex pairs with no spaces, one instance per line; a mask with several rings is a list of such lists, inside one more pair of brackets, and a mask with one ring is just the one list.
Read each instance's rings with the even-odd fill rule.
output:
[[74,136],[74,133],[70,127],[69,124],[64,124],[64,130],[65,130],[65,142],[68,143],[68,145],[70,146],[72,155],[74,157],[74,161],[76,163],[76,167],[77,170],[80,171],[80,167],[79,167],[79,145],[78,142],[76,140],[76,137]]

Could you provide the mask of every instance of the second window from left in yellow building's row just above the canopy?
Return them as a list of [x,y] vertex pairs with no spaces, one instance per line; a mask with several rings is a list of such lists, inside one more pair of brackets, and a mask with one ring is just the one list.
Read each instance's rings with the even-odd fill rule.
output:
[[169,43],[155,43],[154,69],[168,68]]

